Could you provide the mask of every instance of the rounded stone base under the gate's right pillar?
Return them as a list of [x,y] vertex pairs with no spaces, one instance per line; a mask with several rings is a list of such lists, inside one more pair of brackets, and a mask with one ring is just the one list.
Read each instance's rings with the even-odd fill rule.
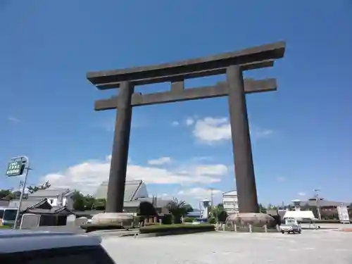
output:
[[253,225],[254,227],[263,227],[272,225],[275,219],[266,213],[234,213],[227,217],[226,222],[234,225]]

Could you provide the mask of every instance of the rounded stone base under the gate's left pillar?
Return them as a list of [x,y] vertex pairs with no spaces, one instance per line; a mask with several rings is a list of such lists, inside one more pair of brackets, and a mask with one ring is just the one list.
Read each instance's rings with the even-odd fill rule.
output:
[[94,225],[122,225],[123,227],[131,227],[134,218],[130,213],[99,213],[92,217]]

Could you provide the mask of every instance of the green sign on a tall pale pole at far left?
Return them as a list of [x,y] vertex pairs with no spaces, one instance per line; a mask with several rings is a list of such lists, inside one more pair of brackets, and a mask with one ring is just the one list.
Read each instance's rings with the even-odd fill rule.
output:
[[11,158],[11,161],[8,163],[8,166],[7,166],[7,170],[6,170],[7,177],[16,177],[16,176],[25,175],[25,180],[23,182],[23,187],[20,194],[20,203],[18,204],[15,224],[13,226],[14,229],[16,229],[18,225],[18,218],[20,217],[20,208],[22,206],[23,194],[25,193],[25,185],[27,184],[27,177],[28,177],[29,170],[31,170],[30,160],[26,156]]

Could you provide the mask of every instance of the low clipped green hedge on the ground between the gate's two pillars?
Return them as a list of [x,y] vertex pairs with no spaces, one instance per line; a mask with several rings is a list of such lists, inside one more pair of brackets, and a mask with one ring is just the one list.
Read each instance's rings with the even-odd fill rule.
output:
[[174,233],[175,234],[187,234],[192,232],[207,232],[214,231],[214,225],[201,224],[201,225],[184,225],[184,224],[175,224],[175,225],[151,225],[149,227],[141,227],[139,232],[141,234],[150,234],[150,233]]

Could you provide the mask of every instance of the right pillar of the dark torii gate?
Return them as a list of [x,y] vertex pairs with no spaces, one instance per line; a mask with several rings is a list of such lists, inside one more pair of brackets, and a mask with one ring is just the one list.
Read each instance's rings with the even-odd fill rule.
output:
[[256,177],[241,67],[239,65],[228,67],[226,76],[239,213],[258,213]]

